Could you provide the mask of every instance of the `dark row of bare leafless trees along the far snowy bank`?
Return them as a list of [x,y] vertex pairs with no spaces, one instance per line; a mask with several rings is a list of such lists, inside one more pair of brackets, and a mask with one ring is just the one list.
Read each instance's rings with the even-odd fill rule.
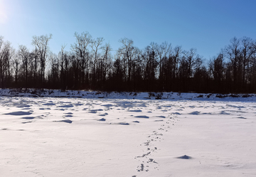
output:
[[119,40],[114,55],[104,38],[75,33],[70,51],[50,52],[52,35],[33,36],[33,50],[15,50],[0,36],[0,87],[138,92],[255,92],[256,41],[232,38],[204,60],[195,48],[150,43],[144,49]]

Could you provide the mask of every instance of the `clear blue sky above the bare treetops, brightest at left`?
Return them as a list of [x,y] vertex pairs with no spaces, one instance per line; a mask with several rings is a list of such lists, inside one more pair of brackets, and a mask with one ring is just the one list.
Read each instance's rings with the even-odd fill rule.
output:
[[70,51],[74,33],[103,37],[112,53],[129,38],[144,49],[151,42],[196,48],[206,60],[233,37],[256,40],[253,0],[0,0],[0,36],[30,50],[32,36],[52,34],[50,50]]

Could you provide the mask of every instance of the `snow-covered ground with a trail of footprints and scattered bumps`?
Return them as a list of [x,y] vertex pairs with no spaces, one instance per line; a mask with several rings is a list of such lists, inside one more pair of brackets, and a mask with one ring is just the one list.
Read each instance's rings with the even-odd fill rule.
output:
[[0,176],[256,176],[255,95],[0,95]]

